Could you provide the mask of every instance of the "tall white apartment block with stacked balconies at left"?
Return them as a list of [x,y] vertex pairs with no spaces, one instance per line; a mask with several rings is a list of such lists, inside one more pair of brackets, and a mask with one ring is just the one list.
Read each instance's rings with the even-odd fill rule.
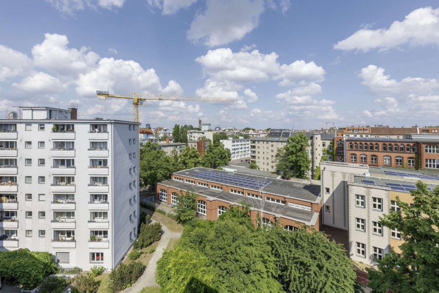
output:
[[0,250],[116,267],[137,238],[139,124],[21,110],[20,120],[0,120]]

